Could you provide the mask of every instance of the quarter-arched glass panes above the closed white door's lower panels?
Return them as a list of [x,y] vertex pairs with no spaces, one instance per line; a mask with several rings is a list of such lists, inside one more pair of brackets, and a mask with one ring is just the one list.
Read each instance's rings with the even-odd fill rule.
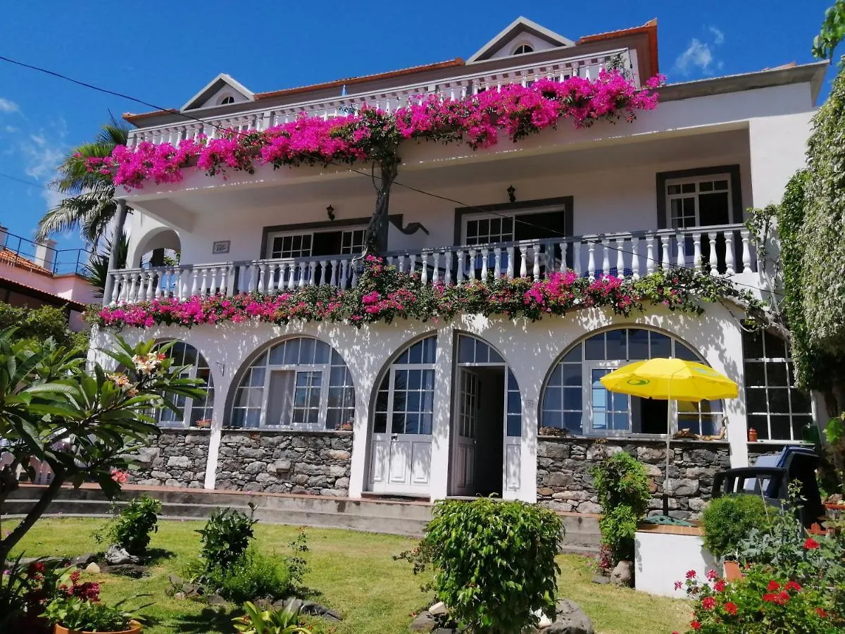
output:
[[376,394],[373,434],[431,435],[436,355],[437,336],[428,336],[390,364]]

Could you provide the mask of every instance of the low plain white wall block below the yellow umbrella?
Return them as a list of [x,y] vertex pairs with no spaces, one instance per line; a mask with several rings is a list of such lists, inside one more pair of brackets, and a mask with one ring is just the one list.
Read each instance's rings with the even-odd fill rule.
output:
[[675,582],[683,582],[688,571],[704,579],[707,571],[720,570],[700,535],[637,531],[634,559],[635,588],[662,597],[686,598],[685,589],[676,590]]

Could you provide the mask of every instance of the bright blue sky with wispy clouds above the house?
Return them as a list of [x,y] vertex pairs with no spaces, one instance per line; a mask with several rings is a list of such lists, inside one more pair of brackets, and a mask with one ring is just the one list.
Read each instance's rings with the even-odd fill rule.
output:
[[[469,57],[519,14],[576,40],[658,19],[660,68],[670,81],[812,61],[832,0],[651,0],[629,3],[7,3],[0,55],[165,107],[216,74],[277,90]],[[106,9],[107,7],[107,9]],[[828,74],[828,81],[831,74]],[[69,147],[109,112],[149,108],[0,62],[0,172],[46,184]],[[31,237],[57,199],[0,177],[0,223]],[[59,248],[75,248],[75,235]]]

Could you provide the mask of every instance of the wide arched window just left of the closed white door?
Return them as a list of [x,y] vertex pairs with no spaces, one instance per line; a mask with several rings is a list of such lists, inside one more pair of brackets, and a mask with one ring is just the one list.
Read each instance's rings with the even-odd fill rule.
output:
[[231,427],[340,429],[355,417],[352,374],[329,344],[286,339],[264,350],[243,374]]

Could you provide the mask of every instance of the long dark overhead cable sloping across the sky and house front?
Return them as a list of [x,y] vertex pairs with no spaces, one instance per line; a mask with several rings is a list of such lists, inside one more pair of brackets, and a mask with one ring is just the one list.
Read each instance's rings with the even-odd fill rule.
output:
[[[239,130],[233,130],[233,129],[230,129],[230,128],[225,128],[225,127],[223,127],[221,125],[217,125],[215,123],[208,123],[208,122],[204,121],[203,119],[196,118],[193,115],[188,114],[187,112],[182,112],[181,110],[177,111],[177,110],[173,110],[171,108],[161,107],[161,106],[156,105],[155,103],[151,103],[150,101],[144,101],[143,99],[139,99],[138,97],[127,95],[126,93],[123,93],[123,92],[118,92],[117,90],[109,90],[107,88],[102,88],[101,86],[90,84],[90,83],[82,81],[80,79],[74,79],[73,77],[68,77],[68,75],[65,75],[65,74],[62,74],[62,73],[57,73],[56,71],[50,70],[48,68],[41,68],[40,66],[35,66],[34,64],[20,62],[19,60],[12,59],[11,57],[4,57],[3,55],[0,55],[0,61],[11,63],[11,64],[19,66],[21,68],[28,68],[28,69],[33,70],[33,71],[38,72],[38,73],[47,74],[47,75],[50,75],[52,77],[56,77],[57,79],[63,79],[63,80],[68,81],[72,84],[79,85],[79,86],[82,86],[83,88],[88,88],[90,90],[96,90],[97,92],[105,93],[106,95],[117,96],[117,97],[120,97],[122,99],[127,99],[128,101],[134,101],[135,103],[139,103],[143,106],[154,108],[155,110],[164,111],[164,112],[167,112],[168,114],[175,114],[175,115],[178,115],[180,117],[189,119],[191,121],[194,121],[194,122],[197,122],[197,123],[202,123],[203,125],[207,125],[210,128],[215,128],[217,130],[220,130],[221,132],[226,132],[228,134],[237,134],[239,136],[247,136],[248,135],[248,133],[246,133],[246,132],[241,132]],[[335,167],[341,167],[341,168],[346,169],[350,172],[355,172],[357,174],[361,174],[361,175],[363,175],[367,178],[383,179],[383,177],[381,177],[380,175],[378,177],[376,177],[373,173],[362,172],[361,170],[357,170],[353,167],[350,167],[350,166],[342,164],[342,163],[337,163],[335,161],[326,161],[326,164],[333,165]],[[7,177],[7,178],[11,178],[11,177]],[[12,179],[13,180],[20,180],[20,179],[15,179],[15,178],[12,178]],[[33,183],[26,183],[26,184],[33,184]],[[467,209],[477,210],[477,211],[480,211],[482,213],[491,214],[493,216],[499,216],[499,217],[502,217],[502,218],[507,218],[511,221],[519,222],[519,223],[526,225],[526,226],[529,226],[529,227],[540,228],[543,231],[552,232],[553,234],[555,234],[559,238],[573,238],[573,236],[567,236],[563,232],[559,232],[555,229],[552,229],[552,228],[549,228],[549,227],[542,227],[542,225],[537,225],[537,224],[532,223],[530,221],[521,220],[519,218],[519,216],[517,216],[517,215],[507,216],[505,214],[500,214],[500,213],[493,211],[493,210],[484,209],[483,207],[479,207],[477,205],[468,205],[468,204],[462,202],[461,200],[451,199],[447,196],[442,196],[440,194],[434,194],[433,192],[428,192],[424,189],[419,189],[419,188],[413,187],[412,185],[406,185],[405,183],[400,183],[400,182],[395,181],[395,180],[393,181],[393,184],[395,184],[398,187],[402,187],[402,188],[409,189],[411,191],[417,192],[418,194],[424,194],[424,195],[427,195],[427,196],[432,196],[433,198],[442,199],[442,200],[446,200],[446,201],[455,203],[455,205],[461,205],[463,207],[466,207]],[[44,186],[41,185],[41,187],[44,187]],[[706,227],[700,227],[700,228],[703,229],[703,228],[706,228]],[[704,233],[704,231],[702,231],[702,233]],[[607,244],[607,243],[602,243],[602,241],[598,240],[598,239],[583,238],[582,237],[581,242],[597,244],[597,245],[601,246],[603,249],[609,249],[609,250],[616,251],[616,252],[619,252],[619,253],[622,253],[622,254],[629,254],[629,255],[631,255],[633,257],[637,257],[637,258],[643,257],[640,254],[635,253],[634,251],[629,251],[629,250],[626,250],[626,249],[621,249],[619,247],[611,246],[610,244]],[[651,260],[652,262],[656,263],[658,266],[660,266],[662,264],[661,260],[657,257],[649,258],[647,255],[644,256],[644,257],[645,257],[646,261]],[[689,271],[701,272],[701,269],[698,268],[698,267],[672,264],[671,262],[668,263],[668,268],[670,268],[670,269],[672,269],[672,268],[674,268],[674,269],[686,269],[686,270],[689,270]],[[748,287],[748,288],[752,288],[752,289],[758,290],[758,291],[761,290],[760,287],[756,287],[756,286],[753,286],[751,284],[745,284],[744,282],[733,281],[733,280],[731,282],[733,284],[737,285],[737,286]],[[776,292],[774,290],[770,290],[769,292],[771,292],[774,295],[782,297],[782,293]]]

